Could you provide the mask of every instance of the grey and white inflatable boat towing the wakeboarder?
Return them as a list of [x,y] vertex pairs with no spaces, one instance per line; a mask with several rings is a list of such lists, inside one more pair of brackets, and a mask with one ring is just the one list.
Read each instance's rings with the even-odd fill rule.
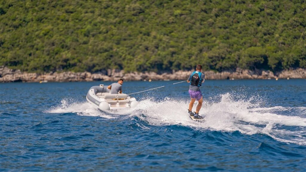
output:
[[108,85],[100,84],[89,89],[86,99],[101,110],[130,109],[136,107],[135,98],[126,94],[110,94]]

